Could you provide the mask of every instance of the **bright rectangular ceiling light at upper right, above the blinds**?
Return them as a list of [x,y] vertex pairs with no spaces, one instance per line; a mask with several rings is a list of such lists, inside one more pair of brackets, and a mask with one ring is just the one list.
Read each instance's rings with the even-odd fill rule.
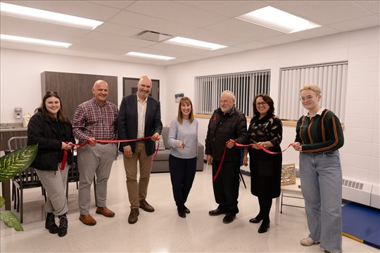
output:
[[281,11],[271,6],[260,8],[236,18],[286,34],[320,27],[320,25],[314,22],[299,18],[296,15],[286,13],[285,11]]

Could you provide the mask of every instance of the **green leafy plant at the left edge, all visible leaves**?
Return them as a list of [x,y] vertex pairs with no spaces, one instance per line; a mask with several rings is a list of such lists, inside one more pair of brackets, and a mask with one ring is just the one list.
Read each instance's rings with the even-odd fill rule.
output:
[[[0,157],[0,182],[3,183],[13,178],[13,176],[23,171],[34,161],[37,155],[38,144],[28,145],[24,148],[19,148],[11,153]],[[0,207],[3,207],[6,200],[0,196]],[[17,216],[11,211],[1,211],[0,220],[4,221],[6,226],[14,228],[15,231],[23,231],[20,221]]]

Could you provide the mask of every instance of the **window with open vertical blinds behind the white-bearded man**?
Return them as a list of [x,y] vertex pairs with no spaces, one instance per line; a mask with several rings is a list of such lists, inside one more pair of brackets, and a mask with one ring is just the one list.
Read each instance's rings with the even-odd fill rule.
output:
[[212,115],[219,108],[220,94],[229,90],[235,94],[236,108],[247,117],[253,116],[252,101],[258,93],[270,93],[270,71],[220,74],[196,77],[196,114]]

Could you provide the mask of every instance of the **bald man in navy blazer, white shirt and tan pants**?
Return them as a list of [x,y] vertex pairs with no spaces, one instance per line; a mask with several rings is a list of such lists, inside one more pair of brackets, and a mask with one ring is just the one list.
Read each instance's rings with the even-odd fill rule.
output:
[[[148,183],[151,176],[155,141],[160,139],[163,123],[161,122],[160,102],[149,94],[152,81],[144,76],[137,83],[137,93],[122,98],[118,116],[118,134],[120,140],[139,138],[141,141],[120,142],[119,150],[124,153],[124,167],[127,176],[127,191],[131,204],[128,222],[137,222],[139,208],[146,212],[154,212],[154,208],[146,202]],[[139,161],[140,178],[137,181],[137,161]]]

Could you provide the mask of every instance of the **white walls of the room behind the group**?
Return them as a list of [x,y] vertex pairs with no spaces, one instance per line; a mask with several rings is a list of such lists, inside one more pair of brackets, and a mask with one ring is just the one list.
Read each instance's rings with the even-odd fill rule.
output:
[[[15,107],[20,106],[23,112],[32,113],[39,106],[40,73],[44,71],[118,76],[119,103],[122,77],[148,74],[153,79],[160,79],[163,124],[170,125],[177,115],[175,93],[184,91],[185,96],[194,100],[196,76],[270,69],[270,95],[276,106],[280,67],[348,60],[345,145],[341,148],[343,176],[379,185],[379,27],[169,67],[11,49],[1,49],[0,53],[2,123],[20,122],[13,117]],[[199,141],[204,143],[208,119],[198,119],[198,122]],[[285,126],[282,147],[292,143],[294,136],[294,127]],[[284,153],[284,162],[298,164],[298,154],[289,149]]]

